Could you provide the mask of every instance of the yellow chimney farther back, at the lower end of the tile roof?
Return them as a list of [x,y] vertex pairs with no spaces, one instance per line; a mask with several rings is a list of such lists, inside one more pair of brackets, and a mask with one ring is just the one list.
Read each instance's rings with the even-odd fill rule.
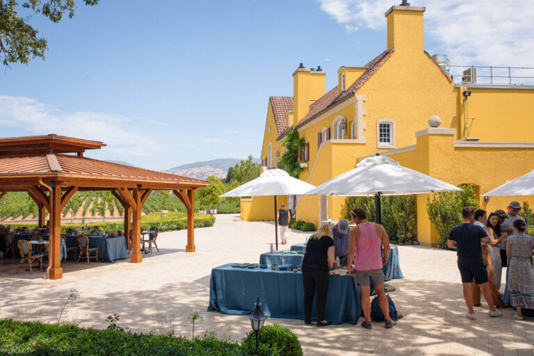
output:
[[305,68],[302,63],[293,72],[293,122],[297,124],[309,112],[309,106],[325,95],[325,72]]

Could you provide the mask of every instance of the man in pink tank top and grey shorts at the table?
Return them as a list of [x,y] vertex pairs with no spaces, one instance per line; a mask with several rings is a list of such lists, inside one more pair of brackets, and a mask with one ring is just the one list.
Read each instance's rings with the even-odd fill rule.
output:
[[[365,320],[362,327],[372,329],[371,326],[371,282],[378,296],[378,305],[384,314],[385,327],[394,327],[395,322],[389,317],[389,303],[384,291],[384,271],[382,266],[387,264],[389,257],[389,237],[382,225],[367,221],[364,209],[356,208],[350,211],[355,227],[348,234],[348,273],[356,277],[362,293],[362,309]],[[382,256],[384,245],[384,256]],[[356,249],[356,253],[353,251]],[[353,260],[354,267],[353,267]]]

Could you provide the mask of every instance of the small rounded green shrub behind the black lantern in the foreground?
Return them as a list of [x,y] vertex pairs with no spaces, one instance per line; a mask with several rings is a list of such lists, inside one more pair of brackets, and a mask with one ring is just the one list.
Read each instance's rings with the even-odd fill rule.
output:
[[[256,334],[251,331],[241,346],[245,355],[254,354],[256,349]],[[266,325],[259,332],[259,356],[302,356],[302,347],[293,332],[280,325]]]

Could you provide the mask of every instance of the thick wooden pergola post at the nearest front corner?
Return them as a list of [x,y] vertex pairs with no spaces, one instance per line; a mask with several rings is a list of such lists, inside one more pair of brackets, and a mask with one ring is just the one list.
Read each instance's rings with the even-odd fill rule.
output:
[[[57,182],[53,182],[57,183]],[[50,193],[50,228],[49,228],[49,278],[58,280],[63,277],[61,268],[61,186],[53,184]]]

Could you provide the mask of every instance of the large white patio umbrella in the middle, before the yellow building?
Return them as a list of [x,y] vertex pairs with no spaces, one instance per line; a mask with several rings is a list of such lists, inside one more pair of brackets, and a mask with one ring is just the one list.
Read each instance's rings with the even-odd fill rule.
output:
[[346,195],[375,197],[376,221],[381,223],[380,196],[462,191],[452,184],[403,167],[397,161],[378,154],[304,195]]

